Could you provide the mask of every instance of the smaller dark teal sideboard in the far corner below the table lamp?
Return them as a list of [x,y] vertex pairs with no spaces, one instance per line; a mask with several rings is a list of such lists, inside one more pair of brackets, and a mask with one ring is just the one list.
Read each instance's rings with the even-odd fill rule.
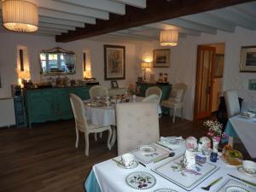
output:
[[[152,86],[158,86],[162,90],[161,101],[167,100],[170,97],[172,84],[150,84],[143,82],[136,82],[137,88],[139,89],[138,96],[145,96],[146,90]],[[169,108],[162,107],[162,113],[169,113]]]

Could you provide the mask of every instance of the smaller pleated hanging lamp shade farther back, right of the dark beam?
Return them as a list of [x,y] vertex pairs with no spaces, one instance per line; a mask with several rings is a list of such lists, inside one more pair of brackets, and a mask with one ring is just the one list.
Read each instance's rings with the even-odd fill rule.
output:
[[177,39],[178,39],[178,32],[176,30],[160,31],[161,46],[176,46]]

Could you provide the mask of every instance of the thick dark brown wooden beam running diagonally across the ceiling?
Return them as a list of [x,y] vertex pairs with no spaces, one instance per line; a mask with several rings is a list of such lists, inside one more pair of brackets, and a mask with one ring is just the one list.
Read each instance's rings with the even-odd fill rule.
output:
[[220,9],[253,0],[147,0],[146,9],[126,5],[125,15],[109,15],[109,20],[96,20],[96,25],[86,24],[75,31],[55,36],[56,42],[67,43],[81,38],[90,38],[109,32],[169,20],[183,15],[192,15],[212,9]]

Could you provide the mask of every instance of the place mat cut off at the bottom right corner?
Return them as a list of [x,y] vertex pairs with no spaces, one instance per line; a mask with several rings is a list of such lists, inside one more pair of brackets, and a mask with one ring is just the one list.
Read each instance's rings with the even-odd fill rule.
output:
[[245,183],[241,183],[235,179],[229,179],[224,181],[224,183],[218,188],[216,192],[255,192],[256,189],[253,187],[249,187]]

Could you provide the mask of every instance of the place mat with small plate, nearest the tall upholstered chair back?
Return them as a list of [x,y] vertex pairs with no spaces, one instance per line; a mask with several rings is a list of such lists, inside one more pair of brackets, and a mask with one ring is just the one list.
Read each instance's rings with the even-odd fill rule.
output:
[[137,150],[132,151],[131,154],[133,154],[137,158],[137,160],[143,162],[144,164],[148,164],[153,162],[154,160],[159,160],[163,157],[166,157],[170,153],[169,151],[163,148],[158,148],[156,145],[148,146],[150,146],[150,148],[154,148],[155,150],[153,152],[145,153],[143,152],[143,150],[139,150],[139,146]]

